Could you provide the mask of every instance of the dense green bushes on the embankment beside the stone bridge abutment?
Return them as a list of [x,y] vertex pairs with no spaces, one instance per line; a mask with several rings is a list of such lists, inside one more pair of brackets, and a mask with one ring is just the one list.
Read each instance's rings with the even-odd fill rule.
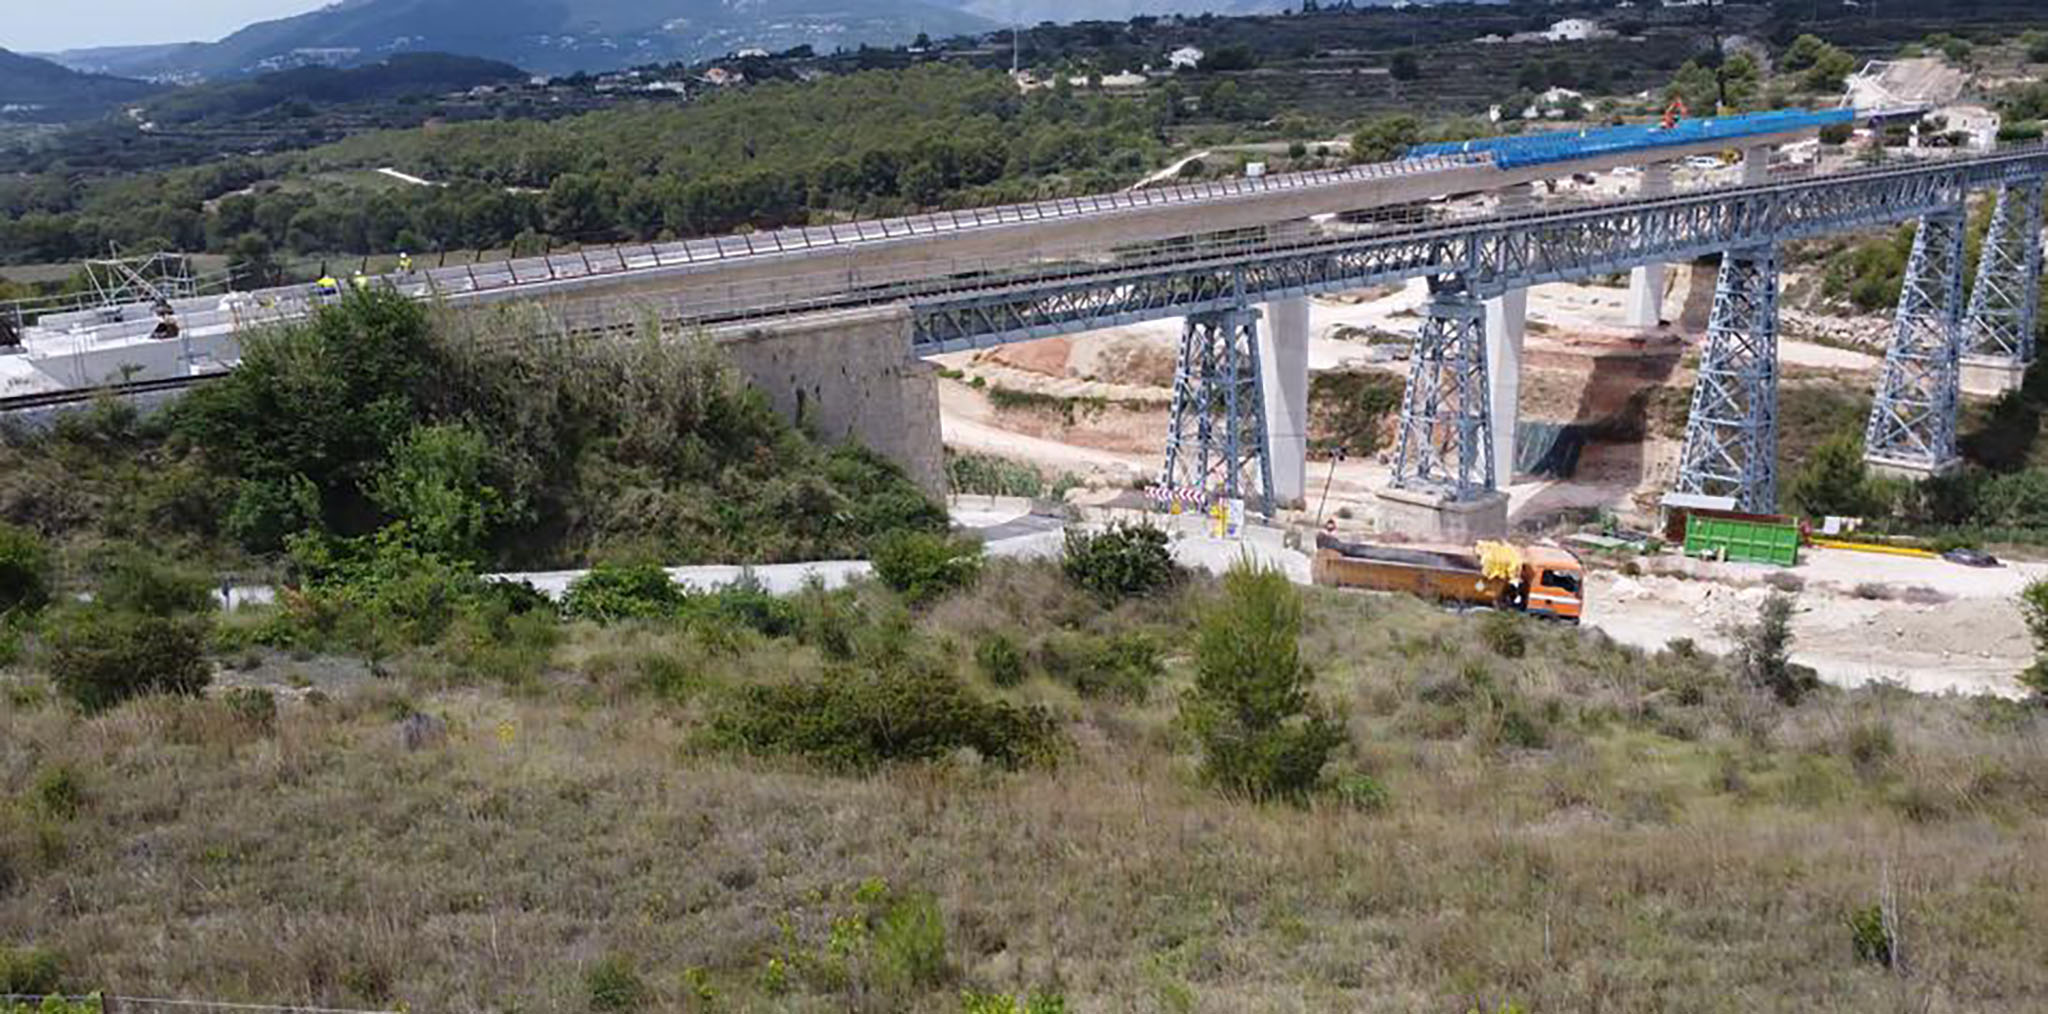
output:
[[893,465],[813,445],[707,342],[487,338],[514,326],[350,297],[250,338],[242,369],[160,418],[16,434],[0,518],[324,574],[852,557],[944,529]]

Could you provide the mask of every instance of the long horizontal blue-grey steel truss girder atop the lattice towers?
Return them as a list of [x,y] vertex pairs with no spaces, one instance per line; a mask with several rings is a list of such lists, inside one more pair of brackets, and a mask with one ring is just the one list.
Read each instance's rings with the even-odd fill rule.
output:
[[1423,225],[1364,238],[1313,240],[1184,264],[1065,272],[977,291],[907,295],[918,354],[1229,309],[1233,283],[1260,303],[1430,274],[1464,274],[1470,293],[1612,274],[1831,231],[1888,225],[1954,207],[1974,186],[2038,180],[2048,152],[1915,164],[1546,211]]

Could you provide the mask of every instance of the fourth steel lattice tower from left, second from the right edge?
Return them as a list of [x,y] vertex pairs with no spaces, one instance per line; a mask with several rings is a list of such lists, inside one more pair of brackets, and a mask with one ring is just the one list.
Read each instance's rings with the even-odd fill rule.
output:
[[1958,205],[1923,217],[1913,238],[1896,330],[1864,432],[1872,465],[1931,475],[1956,463],[1964,231]]

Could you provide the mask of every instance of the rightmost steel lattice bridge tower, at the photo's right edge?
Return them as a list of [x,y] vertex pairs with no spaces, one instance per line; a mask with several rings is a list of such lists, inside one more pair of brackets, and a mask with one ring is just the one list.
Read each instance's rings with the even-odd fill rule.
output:
[[2042,285],[2042,180],[1999,188],[1985,234],[1964,326],[1970,358],[2025,367],[2034,363],[2034,322]]

